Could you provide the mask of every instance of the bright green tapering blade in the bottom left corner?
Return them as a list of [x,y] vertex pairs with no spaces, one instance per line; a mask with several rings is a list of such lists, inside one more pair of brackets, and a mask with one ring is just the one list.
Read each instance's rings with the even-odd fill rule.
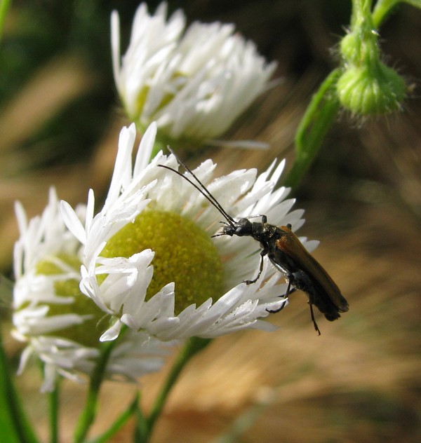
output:
[[8,443],[36,443],[38,439],[16,393],[0,331],[0,439]]

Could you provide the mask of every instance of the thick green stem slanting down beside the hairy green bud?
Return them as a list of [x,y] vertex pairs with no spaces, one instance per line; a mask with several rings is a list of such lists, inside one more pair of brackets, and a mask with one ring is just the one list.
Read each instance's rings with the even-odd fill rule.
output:
[[302,117],[295,135],[295,161],[286,177],[286,186],[295,189],[300,184],[335,121],[340,108],[335,87],[341,74],[338,68],[326,77]]

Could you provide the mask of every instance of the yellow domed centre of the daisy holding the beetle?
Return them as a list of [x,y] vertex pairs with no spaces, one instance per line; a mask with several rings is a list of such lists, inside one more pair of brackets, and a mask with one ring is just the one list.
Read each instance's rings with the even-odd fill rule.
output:
[[222,263],[218,250],[194,221],[174,212],[146,210],[116,233],[102,257],[131,257],[145,249],[155,252],[154,276],[146,299],[175,282],[175,315],[222,295]]

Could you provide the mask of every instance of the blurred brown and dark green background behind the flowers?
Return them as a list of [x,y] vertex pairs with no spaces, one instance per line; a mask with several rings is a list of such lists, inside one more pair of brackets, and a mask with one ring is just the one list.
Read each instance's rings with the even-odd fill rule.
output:
[[[154,11],[157,2],[150,1]],[[105,193],[123,117],[112,78],[109,15],[118,9],[126,48],[137,1],[15,1],[0,46],[0,266],[11,276],[18,230],[13,202],[41,212],[48,188],[76,204],[87,189]],[[218,162],[217,174],[262,170],[274,157],[293,160],[293,137],[312,93],[337,66],[350,1],[170,1],[190,21],[234,22],[282,79],[260,97],[228,139],[259,139],[267,151],[201,149],[189,164]],[[385,60],[411,95],[401,114],[353,121],[345,113],[293,196],[305,208],[300,235],[321,240],[314,256],[349,301],[336,322],[318,315],[316,336],[296,292],[272,321],[272,334],[215,340],[189,364],[173,390],[154,442],[421,441],[421,11],[400,6],[380,29]],[[13,364],[20,344],[8,334]],[[165,371],[163,371],[165,373]],[[163,374],[142,379],[149,407]],[[17,381],[46,438],[39,372]],[[85,387],[63,383],[62,442],[71,441]],[[131,401],[134,386],[106,383],[94,432]],[[241,417],[233,426],[235,418]],[[235,435],[235,434],[233,434]],[[131,427],[115,441],[131,441]],[[41,438],[42,439],[42,438]],[[222,442],[222,440],[220,440]]]

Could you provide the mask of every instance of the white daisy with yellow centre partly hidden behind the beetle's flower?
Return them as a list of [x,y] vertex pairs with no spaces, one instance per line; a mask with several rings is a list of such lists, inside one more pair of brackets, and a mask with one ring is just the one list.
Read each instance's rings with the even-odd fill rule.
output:
[[[76,209],[85,218],[86,207]],[[81,381],[91,374],[99,356],[98,325],[104,313],[80,292],[81,244],[60,215],[60,203],[51,189],[48,205],[39,217],[27,220],[16,204],[20,238],[15,243],[13,325],[15,339],[27,343],[21,373],[31,357],[44,362],[42,391],[51,391],[60,374]],[[166,343],[168,344],[168,343]],[[162,343],[145,333],[128,332],[112,350],[106,368],[109,378],[134,380],[163,364]]]

